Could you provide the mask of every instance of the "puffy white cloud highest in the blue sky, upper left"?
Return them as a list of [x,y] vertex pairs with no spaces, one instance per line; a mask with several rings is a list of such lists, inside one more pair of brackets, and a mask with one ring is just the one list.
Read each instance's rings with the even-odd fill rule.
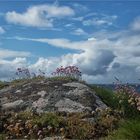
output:
[[38,5],[32,6],[24,13],[7,12],[6,20],[9,23],[33,27],[53,27],[54,18],[73,16],[74,10],[68,6]]

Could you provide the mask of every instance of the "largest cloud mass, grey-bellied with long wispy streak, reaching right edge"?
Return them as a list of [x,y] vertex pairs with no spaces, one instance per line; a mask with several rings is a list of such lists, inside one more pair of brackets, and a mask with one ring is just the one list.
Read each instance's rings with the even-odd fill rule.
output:
[[[103,32],[104,33],[104,32]],[[52,71],[57,66],[77,65],[84,79],[94,83],[114,81],[117,76],[122,81],[137,82],[140,65],[140,35],[130,31],[96,34],[87,40],[71,41],[64,38],[15,38],[47,43],[52,47],[80,50],[57,58],[41,58],[31,66],[39,66]],[[44,67],[45,66],[45,67]],[[50,70],[51,69],[51,70]],[[132,75],[131,73],[135,73]]]

